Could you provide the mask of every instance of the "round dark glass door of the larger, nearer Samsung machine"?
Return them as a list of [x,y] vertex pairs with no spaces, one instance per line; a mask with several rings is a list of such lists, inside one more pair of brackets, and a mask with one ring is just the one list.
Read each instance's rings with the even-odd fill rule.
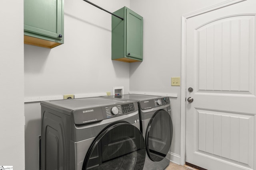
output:
[[140,130],[129,123],[116,122],[94,139],[82,170],[139,170],[145,157],[146,145]]

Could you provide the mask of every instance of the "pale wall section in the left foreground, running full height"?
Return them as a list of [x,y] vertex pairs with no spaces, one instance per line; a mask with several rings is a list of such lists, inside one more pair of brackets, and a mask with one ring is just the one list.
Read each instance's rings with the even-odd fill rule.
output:
[[25,169],[23,1],[0,1],[0,166]]

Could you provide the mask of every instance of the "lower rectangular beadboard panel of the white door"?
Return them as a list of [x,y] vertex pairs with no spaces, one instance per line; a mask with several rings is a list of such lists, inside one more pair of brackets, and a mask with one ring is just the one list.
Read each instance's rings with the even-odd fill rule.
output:
[[196,109],[197,152],[251,166],[254,116]]

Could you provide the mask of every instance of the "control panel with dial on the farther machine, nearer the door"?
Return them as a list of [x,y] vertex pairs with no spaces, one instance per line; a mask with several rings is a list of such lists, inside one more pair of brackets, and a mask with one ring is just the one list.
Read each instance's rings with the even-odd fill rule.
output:
[[150,109],[150,108],[159,107],[167,104],[170,104],[170,99],[168,97],[140,101],[141,109]]

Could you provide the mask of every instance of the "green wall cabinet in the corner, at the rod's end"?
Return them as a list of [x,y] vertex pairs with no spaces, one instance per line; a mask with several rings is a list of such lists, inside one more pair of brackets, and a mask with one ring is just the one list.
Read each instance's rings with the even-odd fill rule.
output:
[[112,60],[128,63],[143,59],[143,18],[127,7],[112,16]]

